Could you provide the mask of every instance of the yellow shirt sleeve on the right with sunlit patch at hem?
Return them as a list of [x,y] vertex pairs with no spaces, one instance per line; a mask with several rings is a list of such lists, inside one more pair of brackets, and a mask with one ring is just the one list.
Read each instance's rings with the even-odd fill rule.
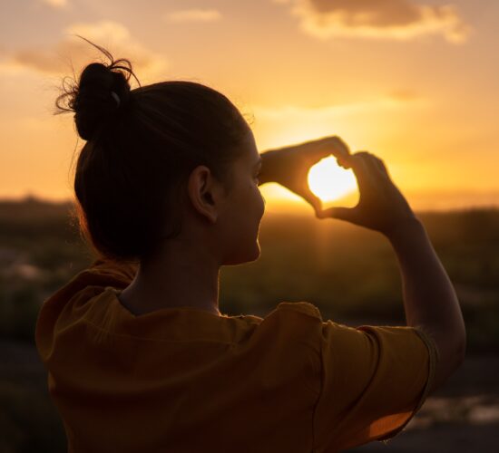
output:
[[420,409],[435,375],[433,340],[414,327],[322,323],[318,451],[394,437]]

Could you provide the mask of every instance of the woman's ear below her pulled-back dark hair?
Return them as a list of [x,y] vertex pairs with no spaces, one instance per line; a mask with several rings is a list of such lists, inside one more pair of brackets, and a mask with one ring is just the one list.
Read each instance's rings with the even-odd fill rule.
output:
[[187,183],[192,207],[213,224],[217,222],[220,210],[219,186],[220,183],[204,165],[199,165],[191,171]]

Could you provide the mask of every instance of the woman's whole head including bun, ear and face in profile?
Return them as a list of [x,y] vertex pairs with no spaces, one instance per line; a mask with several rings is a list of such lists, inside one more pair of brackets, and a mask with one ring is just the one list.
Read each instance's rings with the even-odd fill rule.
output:
[[87,140],[74,176],[85,239],[99,255],[144,262],[164,241],[190,233],[220,248],[229,261],[220,264],[255,259],[249,237],[238,237],[263,215],[259,154],[240,111],[196,82],[131,90],[132,64],[96,47],[110,63],[87,65],[56,101],[61,112],[74,111]]

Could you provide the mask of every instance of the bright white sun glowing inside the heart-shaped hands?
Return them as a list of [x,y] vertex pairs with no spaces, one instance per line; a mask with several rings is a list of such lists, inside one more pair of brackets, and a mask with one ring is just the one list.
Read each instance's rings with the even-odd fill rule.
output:
[[328,157],[308,171],[308,187],[322,201],[334,201],[357,190],[357,180],[351,169],[342,169],[336,158]]

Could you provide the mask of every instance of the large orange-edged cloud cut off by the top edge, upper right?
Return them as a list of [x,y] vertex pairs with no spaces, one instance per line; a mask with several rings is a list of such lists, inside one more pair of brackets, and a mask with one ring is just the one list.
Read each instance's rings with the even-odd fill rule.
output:
[[410,0],[273,0],[289,5],[300,28],[319,39],[365,37],[408,40],[440,34],[463,43],[471,27],[453,5],[417,5]]

